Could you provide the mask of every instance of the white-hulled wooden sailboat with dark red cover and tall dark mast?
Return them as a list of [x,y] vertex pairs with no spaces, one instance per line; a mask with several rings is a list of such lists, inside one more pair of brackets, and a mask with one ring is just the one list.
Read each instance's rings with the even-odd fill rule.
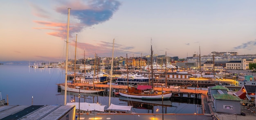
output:
[[[127,58],[127,55],[126,55]],[[152,38],[151,38],[151,68],[153,68],[153,50],[152,50]],[[151,83],[152,85],[138,85],[137,87],[129,86],[127,90],[119,90],[119,95],[127,98],[145,99],[145,100],[163,100],[169,99],[172,92],[164,92],[154,90],[153,86],[153,69],[151,69]],[[128,78],[127,78],[128,79]],[[127,80],[129,82],[129,80]],[[163,86],[162,86],[163,87]]]

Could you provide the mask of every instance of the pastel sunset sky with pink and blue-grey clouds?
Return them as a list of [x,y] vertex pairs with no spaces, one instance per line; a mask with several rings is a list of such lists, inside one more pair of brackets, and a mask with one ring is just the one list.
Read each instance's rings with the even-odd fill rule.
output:
[[[256,0],[2,0],[0,61],[256,54]],[[114,40],[115,39],[115,40]],[[152,40],[151,40],[152,39]],[[77,41],[77,42],[76,42]],[[75,47],[76,46],[76,47]],[[75,50],[76,48],[76,50]]]

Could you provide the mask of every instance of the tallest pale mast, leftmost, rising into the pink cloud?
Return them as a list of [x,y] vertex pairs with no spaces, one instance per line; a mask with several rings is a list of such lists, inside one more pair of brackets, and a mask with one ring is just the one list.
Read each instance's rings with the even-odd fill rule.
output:
[[69,26],[70,26],[70,9],[68,8],[67,15],[67,44],[66,44],[66,66],[65,66],[65,91],[64,91],[64,105],[67,104],[67,55],[68,55],[68,35],[69,35]]

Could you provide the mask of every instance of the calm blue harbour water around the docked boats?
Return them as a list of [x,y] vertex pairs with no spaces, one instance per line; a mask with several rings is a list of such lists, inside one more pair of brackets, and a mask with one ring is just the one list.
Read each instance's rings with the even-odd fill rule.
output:
[[[0,65],[0,91],[2,99],[9,105],[63,105],[63,92],[58,93],[57,83],[65,82],[63,68],[29,68],[29,64]],[[67,103],[72,100],[78,102],[77,93],[67,92]],[[108,108],[108,95],[81,94],[80,102],[101,103]],[[141,103],[144,102],[144,103]],[[115,105],[132,105],[132,112],[162,113],[162,101],[132,101],[124,97],[111,97]],[[156,105],[148,105],[154,103]],[[201,105],[164,101],[164,113],[202,113]],[[170,107],[170,104],[172,107]],[[145,109],[147,108],[147,109]],[[159,111],[157,111],[157,109]]]

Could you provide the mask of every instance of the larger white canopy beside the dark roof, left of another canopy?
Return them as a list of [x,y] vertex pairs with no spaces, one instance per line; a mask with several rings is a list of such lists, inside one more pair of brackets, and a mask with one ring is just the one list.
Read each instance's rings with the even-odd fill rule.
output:
[[[67,105],[76,105],[76,109],[79,108],[79,103],[67,103]],[[97,103],[80,103],[80,110],[84,111],[102,111],[104,112],[106,105],[99,105]]]

